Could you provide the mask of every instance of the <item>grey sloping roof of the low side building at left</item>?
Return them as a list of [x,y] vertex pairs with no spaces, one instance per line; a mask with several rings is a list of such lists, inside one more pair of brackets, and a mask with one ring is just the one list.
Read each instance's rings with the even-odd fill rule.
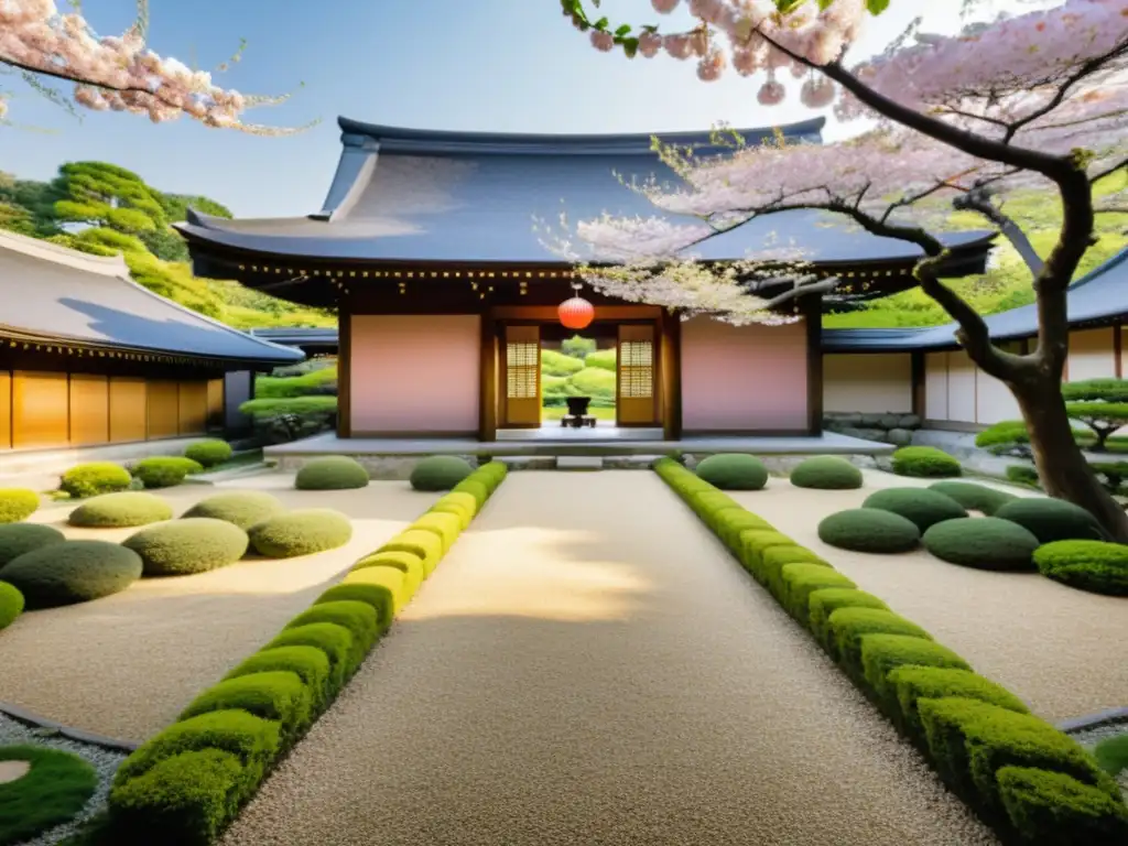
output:
[[240,363],[301,354],[232,329],[130,279],[121,256],[90,256],[0,231],[0,335]]

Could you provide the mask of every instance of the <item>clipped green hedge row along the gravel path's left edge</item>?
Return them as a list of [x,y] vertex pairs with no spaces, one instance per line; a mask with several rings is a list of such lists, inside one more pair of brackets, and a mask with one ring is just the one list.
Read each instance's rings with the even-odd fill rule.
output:
[[505,470],[499,461],[475,470],[126,758],[109,793],[104,840],[215,843],[349,684]]

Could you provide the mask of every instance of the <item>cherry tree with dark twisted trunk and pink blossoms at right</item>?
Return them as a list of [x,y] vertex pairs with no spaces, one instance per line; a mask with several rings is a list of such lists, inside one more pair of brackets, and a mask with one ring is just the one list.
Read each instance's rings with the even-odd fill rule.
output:
[[[804,105],[832,106],[843,121],[870,118],[870,129],[838,144],[776,143],[728,158],[696,160],[663,148],[684,184],[638,190],[691,222],[602,219],[581,226],[581,238],[620,254],[632,244],[661,244],[672,254],[764,215],[819,209],[917,245],[917,283],[959,324],[957,337],[972,361],[1014,394],[1046,490],[1086,508],[1110,537],[1128,543],[1128,515],[1086,464],[1061,398],[1066,289],[1094,241],[1094,184],[1128,166],[1128,0],[1036,0],[1030,11],[989,20],[975,19],[986,2],[964,0],[970,23],[962,32],[927,35],[915,24],[882,54],[853,67],[851,45],[867,15],[888,2],[652,2],[663,14],[681,7],[695,26],[668,34],[646,26],[635,34],[606,18],[592,21],[582,0],[562,6],[598,50],[693,59],[704,81],[729,68],[760,77],[764,106],[787,97],[784,80],[792,77],[801,80]],[[1045,261],[997,202],[1002,192],[1029,185],[1055,190],[1063,204],[1061,229]],[[1026,258],[1039,316],[1029,354],[996,346],[982,318],[940,280],[946,252],[923,214],[945,194],[999,227]]]

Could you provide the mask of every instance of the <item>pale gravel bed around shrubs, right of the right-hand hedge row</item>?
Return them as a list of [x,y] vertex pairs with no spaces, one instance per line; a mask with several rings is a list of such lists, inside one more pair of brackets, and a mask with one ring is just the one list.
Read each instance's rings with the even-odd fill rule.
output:
[[764,491],[732,496],[1010,688],[1039,716],[1056,723],[1128,705],[1128,663],[1110,660],[1109,652],[1128,643],[1128,599],[1086,593],[1038,573],[949,564],[923,549],[873,555],[823,544],[818,526],[828,514],[860,508],[882,487],[932,483],[880,470],[864,476],[857,491],[808,491],[773,479]]

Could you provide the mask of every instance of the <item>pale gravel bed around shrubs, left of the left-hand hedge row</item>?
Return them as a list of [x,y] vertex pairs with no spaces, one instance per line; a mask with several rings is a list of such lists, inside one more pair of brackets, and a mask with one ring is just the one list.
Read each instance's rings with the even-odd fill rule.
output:
[[[26,613],[0,633],[0,700],[64,725],[143,741],[309,607],[326,583],[430,508],[435,496],[416,493],[406,482],[306,492],[285,487],[287,482],[292,486],[292,475],[263,479],[276,485],[272,492],[288,509],[329,508],[347,514],[352,540],[299,558],[249,557],[208,573],[142,579],[92,602]],[[215,491],[185,485],[160,495],[182,514]],[[59,527],[69,538],[120,541],[138,531],[65,526],[72,508],[45,508],[32,519]]]

